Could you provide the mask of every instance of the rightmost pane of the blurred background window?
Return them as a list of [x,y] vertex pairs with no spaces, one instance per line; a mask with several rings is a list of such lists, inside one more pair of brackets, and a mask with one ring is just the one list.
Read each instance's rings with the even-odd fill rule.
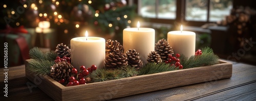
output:
[[232,0],[210,0],[209,21],[220,21],[229,15],[232,9]]

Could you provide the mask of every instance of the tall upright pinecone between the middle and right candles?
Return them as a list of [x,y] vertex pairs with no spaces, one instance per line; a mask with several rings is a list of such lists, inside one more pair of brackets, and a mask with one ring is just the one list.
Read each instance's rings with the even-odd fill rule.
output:
[[159,40],[156,43],[155,51],[161,56],[163,61],[168,59],[168,55],[174,54],[172,47],[170,47],[169,43],[165,39]]

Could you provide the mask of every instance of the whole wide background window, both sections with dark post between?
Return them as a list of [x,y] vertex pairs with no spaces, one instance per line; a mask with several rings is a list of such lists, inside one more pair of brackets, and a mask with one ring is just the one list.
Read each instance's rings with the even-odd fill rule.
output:
[[138,13],[156,23],[189,21],[201,26],[223,20],[232,9],[232,0],[138,0]]

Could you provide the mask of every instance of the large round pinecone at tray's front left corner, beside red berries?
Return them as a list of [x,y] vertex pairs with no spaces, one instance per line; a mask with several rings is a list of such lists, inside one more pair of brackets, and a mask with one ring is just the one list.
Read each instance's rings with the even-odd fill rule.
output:
[[69,78],[73,76],[73,74],[71,73],[71,70],[73,68],[74,67],[66,61],[58,62],[51,66],[50,75],[56,81],[59,81],[61,79],[69,81]]

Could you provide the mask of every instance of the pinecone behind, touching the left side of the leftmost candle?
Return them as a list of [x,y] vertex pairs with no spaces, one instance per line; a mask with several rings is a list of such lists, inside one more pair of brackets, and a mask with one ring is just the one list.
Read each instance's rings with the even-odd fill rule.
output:
[[62,58],[63,56],[70,57],[71,55],[70,51],[71,49],[69,49],[68,46],[63,45],[63,43],[61,43],[56,46],[55,53],[57,53],[57,56],[59,56],[60,58]]

